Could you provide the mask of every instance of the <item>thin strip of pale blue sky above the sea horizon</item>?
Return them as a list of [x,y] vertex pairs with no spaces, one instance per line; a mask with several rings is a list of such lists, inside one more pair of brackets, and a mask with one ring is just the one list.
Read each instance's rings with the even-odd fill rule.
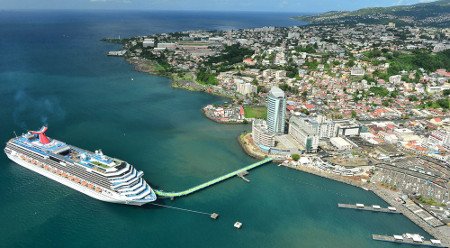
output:
[[325,12],[431,0],[0,0],[0,9],[139,9]]

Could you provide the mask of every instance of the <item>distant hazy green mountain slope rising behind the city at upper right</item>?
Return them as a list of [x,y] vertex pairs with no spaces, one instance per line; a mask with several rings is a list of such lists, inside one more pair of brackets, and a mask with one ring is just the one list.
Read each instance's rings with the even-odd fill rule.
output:
[[312,24],[383,24],[450,27],[450,0],[414,5],[365,8],[356,11],[331,11],[297,19]]

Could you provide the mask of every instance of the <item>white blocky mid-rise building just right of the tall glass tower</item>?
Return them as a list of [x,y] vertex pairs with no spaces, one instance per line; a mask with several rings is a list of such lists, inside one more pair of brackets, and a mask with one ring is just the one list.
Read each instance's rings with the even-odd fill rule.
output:
[[292,116],[289,120],[289,135],[304,147],[305,152],[317,152],[319,132],[319,123],[313,118]]

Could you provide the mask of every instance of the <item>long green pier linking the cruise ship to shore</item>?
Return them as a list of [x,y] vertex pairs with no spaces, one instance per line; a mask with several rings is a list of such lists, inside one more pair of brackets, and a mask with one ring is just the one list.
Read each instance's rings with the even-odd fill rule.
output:
[[228,173],[228,174],[226,174],[226,175],[223,175],[223,176],[221,176],[221,177],[215,178],[215,179],[213,179],[213,180],[211,180],[211,181],[202,183],[202,184],[200,184],[200,185],[197,185],[197,186],[195,186],[195,187],[192,187],[192,188],[187,189],[187,190],[184,190],[184,191],[180,191],[180,192],[164,192],[163,190],[158,190],[158,189],[155,189],[154,191],[155,191],[155,193],[156,193],[158,196],[161,196],[161,197],[170,197],[170,198],[173,198],[173,197],[186,196],[186,195],[192,194],[192,193],[194,193],[194,192],[197,192],[197,191],[199,191],[199,190],[202,190],[202,189],[204,189],[204,188],[207,188],[207,187],[209,187],[209,186],[211,186],[211,185],[214,185],[214,184],[216,184],[216,183],[225,181],[225,180],[227,180],[227,179],[229,179],[229,178],[232,178],[232,177],[234,177],[234,176],[236,176],[236,175],[238,175],[238,174],[240,174],[240,173],[244,173],[245,171],[249,171],[249,170],[254,169],[254,168],[256,168],[256,167],[259,167],[259,166],[261,166],[261,165],[263,165],[263,164],[269,163],[269,162],[271,162],[271,161],[272,161],[272,158],[266,158],[266,159],[263,159],[263,160],[261,160],[261,161],[259,161],[259,162],[256,162],[256,163],[254,163],[254,164],[248,165],[248,166],[246,166],[246,167],[244,167],[244,168],[242,168],[242,169],[239,169],[239,170],[230,172],[230,173]]

